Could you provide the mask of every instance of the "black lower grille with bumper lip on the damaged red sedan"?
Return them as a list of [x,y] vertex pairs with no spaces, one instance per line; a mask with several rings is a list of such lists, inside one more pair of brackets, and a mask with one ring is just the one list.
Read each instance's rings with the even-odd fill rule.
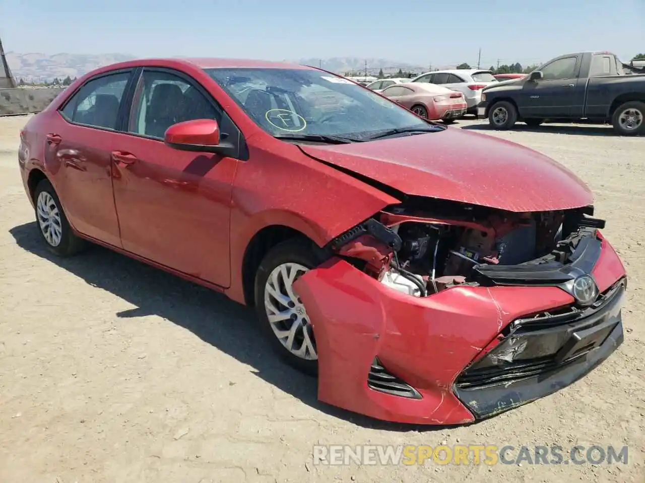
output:
[[[564,310],[555,319],[517,319],[499,345],[457,377],[455,395],[477,419],[484,419],[580,379],[623,341],[620,308],[625,287],[626,279],[620,279],[584,311]],[[510,354],[513,347],[519,347],[519,353],[500,361],[499,356]]]

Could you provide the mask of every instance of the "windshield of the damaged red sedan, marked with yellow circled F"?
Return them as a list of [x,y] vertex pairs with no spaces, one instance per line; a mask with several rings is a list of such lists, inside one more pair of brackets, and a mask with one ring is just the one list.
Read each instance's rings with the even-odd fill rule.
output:
[[364,140],[393,129],[432,129],[352,81],[309,69],[215,68],[206,73],[270,135]]

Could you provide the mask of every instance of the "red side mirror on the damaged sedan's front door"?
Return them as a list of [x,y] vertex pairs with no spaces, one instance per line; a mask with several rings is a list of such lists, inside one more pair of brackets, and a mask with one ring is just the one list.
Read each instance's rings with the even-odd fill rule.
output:
[[219,125],[214,119],[194,119],[173,124],[166,129],[164,143],[178,151],[195,151],[198,153],[216,153],[233,156],[235,147],[230,142],[223,142]]

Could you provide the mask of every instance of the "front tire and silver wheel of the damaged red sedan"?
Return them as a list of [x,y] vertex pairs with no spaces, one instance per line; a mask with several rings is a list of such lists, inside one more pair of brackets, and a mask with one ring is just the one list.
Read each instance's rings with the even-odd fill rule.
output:
[[310,319],[293,283],[319,265],[313,243],[299,238],[275,245],[255,276],[255,310],[273,350],[297,370],[318,372],[318,354]]

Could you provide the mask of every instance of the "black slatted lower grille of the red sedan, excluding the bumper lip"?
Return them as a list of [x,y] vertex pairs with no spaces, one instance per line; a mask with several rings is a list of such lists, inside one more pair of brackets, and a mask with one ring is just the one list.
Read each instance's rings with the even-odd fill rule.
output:
[[[504,340],[466,368],[457,377],[455,386],[481,388],[509,384],[546,375],[577,362],[598,346],[598,340],[567,348],[571,334],[605,325],[607,328],[603,330],[608,335],[619,323],[619,303],[624,287],[624,280],[620,280],[585,310],[561,307],[513,321],[504,333]],[[513,348],[520,348],[519,354],[513,354]]]

